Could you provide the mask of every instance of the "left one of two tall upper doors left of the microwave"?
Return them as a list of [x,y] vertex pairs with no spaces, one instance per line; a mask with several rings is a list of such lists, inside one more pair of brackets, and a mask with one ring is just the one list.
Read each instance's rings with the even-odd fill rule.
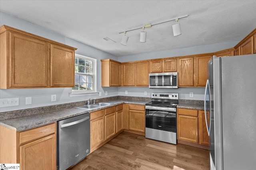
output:
[[135,63],[124,64],[124,86],[135,86]]

